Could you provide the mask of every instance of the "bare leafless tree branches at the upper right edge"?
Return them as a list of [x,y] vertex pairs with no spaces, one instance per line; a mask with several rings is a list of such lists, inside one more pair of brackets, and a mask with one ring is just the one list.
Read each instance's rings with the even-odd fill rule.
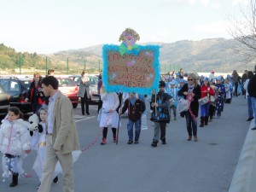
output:
[[239,9],[241,19],[237,19],[237,15],[230,18],[228,32],[238,43],[234,50],[250,62],[256,58],[256,0],[249,0],[247,4],[240,2]]

